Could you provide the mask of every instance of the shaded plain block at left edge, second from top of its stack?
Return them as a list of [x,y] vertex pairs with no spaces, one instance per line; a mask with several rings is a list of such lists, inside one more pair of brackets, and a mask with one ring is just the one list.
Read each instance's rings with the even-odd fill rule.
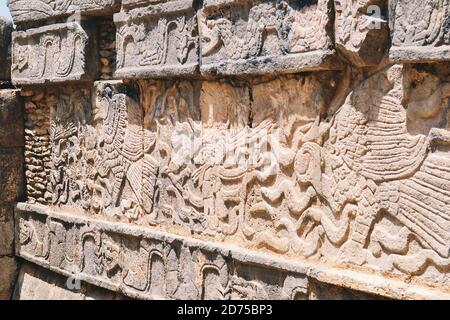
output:
[[23,105],[19,90],[0,91],[0,147],[23,147]]

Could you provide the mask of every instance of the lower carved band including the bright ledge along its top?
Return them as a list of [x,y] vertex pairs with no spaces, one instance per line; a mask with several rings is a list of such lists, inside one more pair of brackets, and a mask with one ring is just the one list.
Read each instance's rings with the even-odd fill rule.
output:
[[[17,254],[74,281],[140,299],[448,299],[393,278],[18,204]],[[377,283],[376,286],[373,284]],[[333,292],[334,292],[333,291]]]

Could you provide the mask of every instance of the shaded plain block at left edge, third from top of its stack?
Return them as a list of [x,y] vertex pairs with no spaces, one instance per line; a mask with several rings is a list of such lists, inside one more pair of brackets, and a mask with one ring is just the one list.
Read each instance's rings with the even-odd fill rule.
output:
[[23,151],[0,148],[0,203],[16,202],[22,195]]

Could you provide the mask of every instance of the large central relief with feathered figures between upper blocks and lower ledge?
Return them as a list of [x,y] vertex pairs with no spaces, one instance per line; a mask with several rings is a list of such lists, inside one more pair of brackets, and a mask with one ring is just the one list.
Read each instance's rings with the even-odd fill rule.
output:
[[335,112],[335,76],[68,89],[37,202],[445,291],[448,79],[392,66]]

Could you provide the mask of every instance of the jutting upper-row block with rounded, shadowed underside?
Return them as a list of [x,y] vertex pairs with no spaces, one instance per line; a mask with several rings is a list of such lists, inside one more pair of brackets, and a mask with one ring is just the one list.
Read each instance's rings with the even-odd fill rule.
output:
[[378,64],[389,40],[387,0],[335,0],[336,48],[358,67]]

